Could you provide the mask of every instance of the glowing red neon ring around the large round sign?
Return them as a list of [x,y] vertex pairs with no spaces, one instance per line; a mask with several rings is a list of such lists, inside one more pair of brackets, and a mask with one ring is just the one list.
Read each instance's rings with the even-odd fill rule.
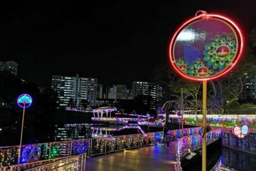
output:
[[[176,39],[179,35],[179,33],[184,29],[186,28],[187,26],[189,26],[190,24],[196,22],[197,20],[200,20],[200,19],[208,19],[208,18],[215,18],[215,19],[220,19],[222,20],[223,22],[226,22],[228,25],[231,25],[233,27],[234,30],[234,33],[237,33],[237,38],[238,38],[238,43],[239,43],[239,46],[238,46],[238,51],[237,51],[237,54],[232,62],[232,65],[230,65],[229,67],[227,67],[227,69],[225,69],[223,72],[221,72],[220,74],[217,74],[217,75],[214,75],[214,76],[208,76],[208,77],[191,77],[187,74],[184,74],[182,71],[180,71],[176,64],[175,64],[175,56],[174,56],[174,47],[175,47],[175,42],[176,42]],[[231,19],[227,18],[227,17],[224,17],[222,15],[217,15],[217,14],[201,14],[199,16],[196,16],[196,17],[193,17],[191,19],[188,19],[184,24],[182,24],[178,30],[175,32],[174,36],[172,37],[171,41],[170,41],[170,46],[169,46],[169,59],[170,59],[170,63],[172,65],[172,67],[174,68],[175,72],[182,76],[183,78],[186,78],[188,80],[192,80],[192,81],[202,81],[202,80],[212,80],[212,79],[217,79],[217,78],[220,78],[224,75],[226,75],[228,72],[230,72],[234,66],[237,65],[239,59],[241,58],[242,56],[242,53],[244,51],[244,38],[243,38],[243,34],[242,34],[242,31],[241,29],[237,26],[236,23],[234,23]]]

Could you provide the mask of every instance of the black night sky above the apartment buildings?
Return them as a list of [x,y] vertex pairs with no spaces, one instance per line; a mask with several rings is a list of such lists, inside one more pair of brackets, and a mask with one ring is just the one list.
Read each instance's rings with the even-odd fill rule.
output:
[[131,87],[168,62],[170,37],[198,10],[236,19],[246,36],[256,26],[254,1],[2,1],[0,61],[41,87],[54,74]]

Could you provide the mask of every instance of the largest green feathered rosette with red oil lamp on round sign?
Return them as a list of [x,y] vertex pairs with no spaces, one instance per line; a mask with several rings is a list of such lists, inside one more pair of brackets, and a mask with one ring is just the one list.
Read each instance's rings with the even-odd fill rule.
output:
[[207,66],[212,66],[214,70],[223,70],[232,63],[237,50],[237,39],[233,33],[222,33],[216,35],[205,45],[204,60]]

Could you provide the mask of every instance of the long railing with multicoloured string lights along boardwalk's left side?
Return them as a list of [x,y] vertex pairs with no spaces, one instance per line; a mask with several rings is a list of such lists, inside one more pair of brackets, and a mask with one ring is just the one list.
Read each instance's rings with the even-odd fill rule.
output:
[[[200,127],[183,130],[183,136],[199,133]],[[181,130],[168,131],[171,140],[181,138]],[[60,141],[39,144],[22,145],[20,165],[43,164],[46,160],[53,160],[73,155],[87,153],[88,156],[119,152],[125,149],[141,147],[163,141],[163,132],[133,134],[116,137],[91,138],[72,141]],[[0,147],[0,169],[18,162],[18,146]]]

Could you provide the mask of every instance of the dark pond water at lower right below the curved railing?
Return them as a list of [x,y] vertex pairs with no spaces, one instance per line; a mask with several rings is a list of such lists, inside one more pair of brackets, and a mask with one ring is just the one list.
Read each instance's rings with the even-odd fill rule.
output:
[[[195,151],[191,159],[181,160],[183,171],[202,170],[202,149]],[[221,147],[219,144],[207,146],[207,170],[210,171],[250,171],[256,168],[256,155]]]

